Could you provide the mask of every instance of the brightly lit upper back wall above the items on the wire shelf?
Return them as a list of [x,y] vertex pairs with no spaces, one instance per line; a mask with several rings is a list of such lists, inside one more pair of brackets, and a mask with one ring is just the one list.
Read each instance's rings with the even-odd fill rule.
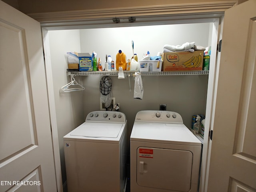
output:
[[98,28],[80,30],[81,51],[92,54],[105,62],[106,54],[116,61],[118,50],[127,58],[132,58],[132,40],[134,53],[138,60],[142,54],[150,52],[151,56],[163,52],[165,44],[182,45],[185,42],[196,42],[196,45],[208,46],[209,23],[176,24],[159,26],[139,26],[120,28]]

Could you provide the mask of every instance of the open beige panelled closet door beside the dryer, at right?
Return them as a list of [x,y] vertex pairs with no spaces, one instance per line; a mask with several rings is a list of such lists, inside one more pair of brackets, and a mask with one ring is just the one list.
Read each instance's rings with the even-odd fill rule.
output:
[[207,191],[255,192],[256,0],[225,11],[216,92]]

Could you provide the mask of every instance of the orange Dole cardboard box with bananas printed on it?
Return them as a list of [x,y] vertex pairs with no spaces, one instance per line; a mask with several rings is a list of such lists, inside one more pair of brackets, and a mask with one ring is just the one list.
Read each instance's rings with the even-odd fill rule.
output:
[[204,51],[162,54],[162,71],[202,71]]

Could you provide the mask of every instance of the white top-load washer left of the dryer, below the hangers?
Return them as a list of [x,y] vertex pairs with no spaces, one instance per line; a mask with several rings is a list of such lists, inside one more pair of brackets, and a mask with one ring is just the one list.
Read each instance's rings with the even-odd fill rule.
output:
[[94,111],[64,136],[68,192],[124,192],[127,120],[122,112]]

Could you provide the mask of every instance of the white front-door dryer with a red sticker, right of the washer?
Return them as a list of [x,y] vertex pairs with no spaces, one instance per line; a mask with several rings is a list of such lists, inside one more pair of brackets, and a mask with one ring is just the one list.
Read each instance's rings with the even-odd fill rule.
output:
[[170,111],[140,111],[130,136],[131,192],[197,192],[201,142]]

